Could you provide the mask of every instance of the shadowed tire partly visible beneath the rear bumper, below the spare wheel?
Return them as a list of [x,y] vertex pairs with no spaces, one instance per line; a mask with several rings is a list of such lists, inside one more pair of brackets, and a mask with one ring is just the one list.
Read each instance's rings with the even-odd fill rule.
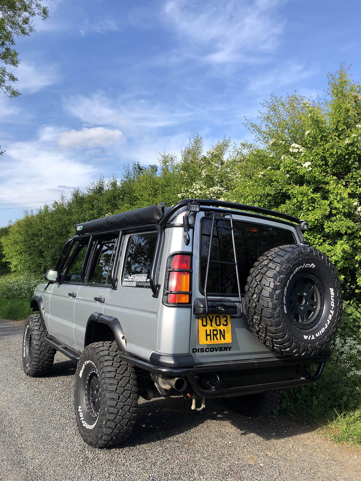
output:
[[267,416],[276,409],[282,398],[280,389],[257,392],[247,396],[230,397],[224,400],[224,404],[232,411],[244,416]]

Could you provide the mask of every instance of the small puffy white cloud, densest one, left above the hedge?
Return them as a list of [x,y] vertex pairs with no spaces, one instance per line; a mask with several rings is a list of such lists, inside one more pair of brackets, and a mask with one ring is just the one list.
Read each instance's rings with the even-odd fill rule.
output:
[[58,144],[61,147],[76,147],[77,149],[107,147],[123,139],[124,136],[120,130],[110,130],[104,127],[83,127],[81,130],[61,133],[58,136]]

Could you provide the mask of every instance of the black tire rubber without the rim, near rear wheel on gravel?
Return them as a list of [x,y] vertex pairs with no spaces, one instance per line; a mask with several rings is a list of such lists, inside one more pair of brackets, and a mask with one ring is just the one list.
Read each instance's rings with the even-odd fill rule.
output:
[[107,448],[125,442],[136,422],[138,410],[138,387],[134,367],[119,357],[116,341],[89,344],[80,356],[75,374],[77,378],[83,362],[92,359],[98,369],[102,384],[102,404],[99,413],[101,422],[89,433],[77,426],[84,441],[91,446]]

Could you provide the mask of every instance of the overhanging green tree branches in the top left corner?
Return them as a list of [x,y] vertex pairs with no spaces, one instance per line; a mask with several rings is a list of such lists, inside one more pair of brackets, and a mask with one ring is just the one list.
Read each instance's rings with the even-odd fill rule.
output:
[[[18,52],[13,48],[14,36],[25,37],[35,32],[32,19],[49,17],[49,10],[38,0],[0,0],[0,61],[5,65],[19,65]],[[20,92],[13,84],[18,79],[6,67],[0,67],[0,89],[6,97],[18,97]]]

